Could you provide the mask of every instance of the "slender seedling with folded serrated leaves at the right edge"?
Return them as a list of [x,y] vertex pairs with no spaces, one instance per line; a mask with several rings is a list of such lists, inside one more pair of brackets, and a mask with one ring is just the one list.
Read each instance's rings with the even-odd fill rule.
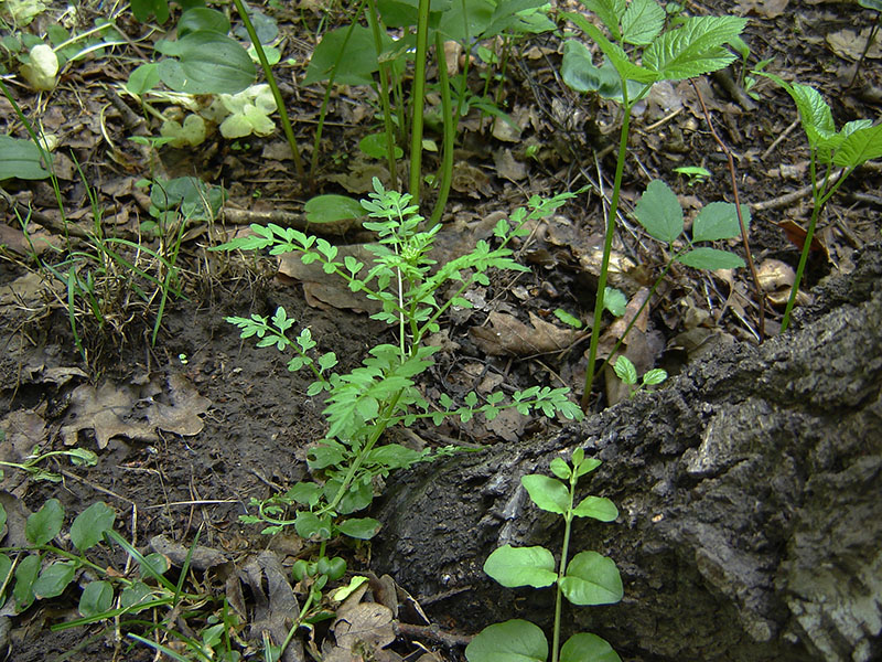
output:
[[[811,249],[811,239],[818,217],[827,201],[836,193],[848,177],[857,168],[882,157],[882,124],[873,126],[870,119],[858,119],[847,122],[839,131],[836,130],[832,111],[820,93],[810,85],[787,83],[770,73],[757,72],[759,75],[774,81],[790,95],[799,111],[799,120],[808,139],[810,153],[809,177],[811,178],[811,197],[814,205],[811,218],[808,222],[803,253],[796,268],[796,278],[790,288],[790,296],[784,310],[781,322],[782,333],[787,330],[790,322],[790,312],[796,302],[796,293],[803,281],[808,253]],[[818,164],[826,167],[824,178],[817,179]],[[835,168],[840,168],[833,173]]]

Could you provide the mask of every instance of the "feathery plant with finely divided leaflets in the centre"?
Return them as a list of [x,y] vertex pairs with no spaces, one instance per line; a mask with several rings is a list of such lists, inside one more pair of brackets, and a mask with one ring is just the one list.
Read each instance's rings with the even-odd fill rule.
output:
[[[492,393],[483,404],[475,393],[467,394],[461,404],[444,395],[430,405],[415,381],[432,365],[435,348],[424,341],[439,330],[439,318],[451,306],[471,307],[462,295],[472,284],[490,282],[488,269],[525,270],[512,258],[508,243],[528,233],[525,224],[529,220],[547,216],[572,194],[561,194],[549,201],[531,199],[529,211],[518,209],[510,220],[499,221],[495,228],[498,247],[481,241],[472,253],[433,271],[435,263],[430,257],[431,248],[441,226],[420,229],[423,217],[409,194],[387,191],[376,179],[374,190],[369,199],[362,202],[369,216],[364,227],[378,237],[376,244],[368,246],[374,254],[373,265],[352,256],[341,260],[337,248],[325,239],[277,225],[252,225],[254,236],[218,247],[225,250],[269,249],[275,255],[299,254],[304,264],[321,265],[326,274],[338,276],[353,291],[379,302],[383,309],[373,316],[374,319],[397,329],[396,344],[378,344],[369,350],[362,366],[337,373],[336,355],[322,353],[309,328],[289,337],[295,321],[284,309],[279,308],[271,319],[256,314],[227,318],[241,330],[243,338],[254,338],[258,346],[292,352],[288,369],[306,370],[313,377],[306,395],[326,394],[324,414],[329,429],[325,438],[306,453],[314,479],[299,482],[268,500],[252,502],[257,512],[245,517],[246,522],[262,524],[268,534],[293,526],[298,535],[314,542],[329,541],[340,534],[357,540],[373,537],[379,524],[369,517],[353,515],[372,503],[377,479],[438,455],[397,444],[379,445],[384,431],[391,426],[409,426],[418,419],[440,424],[452,416],[467,421],[477,414],[493,419],[505,408],[515,408],[521,414],[539,410],[548,416],[580,416],[579,407],[567,398],[566,388],[534,386],[515,392],[507,402],[502,392]],[[441,299],[440,293],[449,287],[453,295]],[[291,511],[294,516],[287,516]]]

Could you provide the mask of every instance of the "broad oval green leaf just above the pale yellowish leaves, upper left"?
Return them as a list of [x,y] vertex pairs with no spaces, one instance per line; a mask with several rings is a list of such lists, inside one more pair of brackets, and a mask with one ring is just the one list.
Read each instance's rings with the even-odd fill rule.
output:
[[160,78],[175,92],[236,94],[255,82],[248,53],[225,34],[201,30],[178,41],[157,42],[155,47],[168,56],[159,63]]

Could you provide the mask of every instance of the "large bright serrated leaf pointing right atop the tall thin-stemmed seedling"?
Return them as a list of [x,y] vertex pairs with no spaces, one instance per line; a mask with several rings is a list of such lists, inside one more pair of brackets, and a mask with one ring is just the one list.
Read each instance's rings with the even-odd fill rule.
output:
[[682,26],[664,32],[647,46],[643,52],[643,65],[668,81],[721,70],[735,60],[724,44],[741,34],[746,22],[736,17],[684,19]]

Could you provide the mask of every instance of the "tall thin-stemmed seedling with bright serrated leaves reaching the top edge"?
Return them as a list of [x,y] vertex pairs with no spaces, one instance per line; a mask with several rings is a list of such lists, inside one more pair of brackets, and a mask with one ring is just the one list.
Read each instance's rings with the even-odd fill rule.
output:
[[561,75],[577,92],[594,92],[615,99],[624,110],[582,396],[582,408],[588,409],[632,109],[655,83],[692,78],[728,66],[735,55],[725,44],[741,34],[746,21],[736,17],[689,17],[665,28],[665,9],[655,0],[584,0],[583,3],[600,18],[610,38],[582,14],[563,12],[563,15],[600,47],[604,64],[595,66],[585,45],[570,40],[564,44]]

